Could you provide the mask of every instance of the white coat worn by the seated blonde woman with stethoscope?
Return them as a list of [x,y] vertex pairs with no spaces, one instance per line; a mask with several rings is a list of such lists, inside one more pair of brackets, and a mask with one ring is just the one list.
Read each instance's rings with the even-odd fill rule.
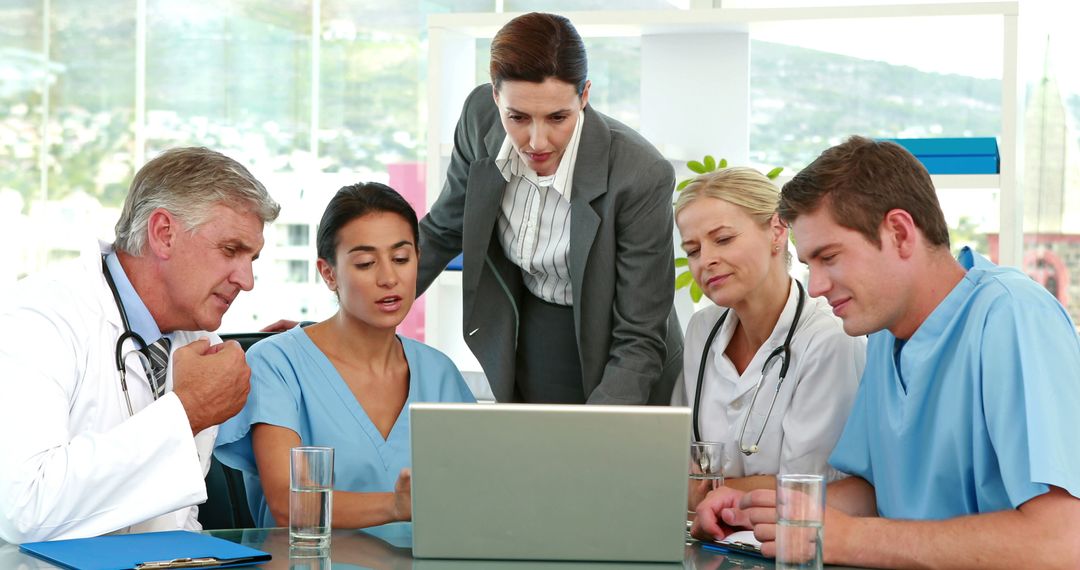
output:
[[[866,364],[866,339],[847,336],[840,320],[832,314],[824,299],[806,298],[802,316],[792,337],[787,378],[777,395],[768,423],[765,418],[777,390],[779,358],[774,358],[767,370],[753,411],[748,409],[761,379],[761,366],[777,347],[783,345],[795,318],[797,302],[798,287],[793,282],[777,326],[741,375],[724,354],[739,322],[733,311],[713,341],[701,389],[700,430],[702,439],[726,444],[726,477],[818,473],[834,480],[842,476],[828,466],[828,456],[854,402]],[[713,306],[690,318],[683,352],[683,376],[675,384],[673,405],[693,406],[702,350],[724,311]],[[751,417],[743,438],[745,445],[753,445],[761,425],[766,425],[759,451],[752,456],[739,451],[739,432],[746,413]]]

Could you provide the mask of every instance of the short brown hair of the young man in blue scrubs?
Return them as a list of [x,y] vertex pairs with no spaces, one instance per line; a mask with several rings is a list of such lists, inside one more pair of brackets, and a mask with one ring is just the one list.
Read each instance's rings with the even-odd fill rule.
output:
[[932,245],[948,247],[948,226],[930,174],[895,142],[852,136],[822,152],[784,185],[777,212],[792,223],[823,205],[837,223],[878,247],[881,221],[897,208],[912,215]]

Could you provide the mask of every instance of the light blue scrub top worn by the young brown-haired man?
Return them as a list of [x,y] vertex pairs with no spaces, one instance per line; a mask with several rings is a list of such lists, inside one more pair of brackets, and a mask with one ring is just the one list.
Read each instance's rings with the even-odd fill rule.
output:
[[[1052,485],[1080,497],[1080,340],[1020,271],[964,248],[968,273],[897,349],[870,336],[855,405],[829,458],[889,518],[1015,508]],[[899,352],[897,352],[899,351]]]

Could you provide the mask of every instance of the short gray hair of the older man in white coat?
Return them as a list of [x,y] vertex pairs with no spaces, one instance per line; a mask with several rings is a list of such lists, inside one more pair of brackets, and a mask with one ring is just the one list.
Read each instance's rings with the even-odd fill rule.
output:
[[137,256],[146,247],[150,214],[164,208],[189,231],[205,223],[211,209],[224,204],[251,212],[269,223],[279,205],[262,182],[237,161],[202,147],[170,149],[146,163],[124,199],[113,248]]

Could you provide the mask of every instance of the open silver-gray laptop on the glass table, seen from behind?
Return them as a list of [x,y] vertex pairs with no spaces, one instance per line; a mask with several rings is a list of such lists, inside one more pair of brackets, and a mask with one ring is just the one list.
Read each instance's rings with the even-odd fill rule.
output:
[[683,560],[689,408],[409,410],[415,557]]

